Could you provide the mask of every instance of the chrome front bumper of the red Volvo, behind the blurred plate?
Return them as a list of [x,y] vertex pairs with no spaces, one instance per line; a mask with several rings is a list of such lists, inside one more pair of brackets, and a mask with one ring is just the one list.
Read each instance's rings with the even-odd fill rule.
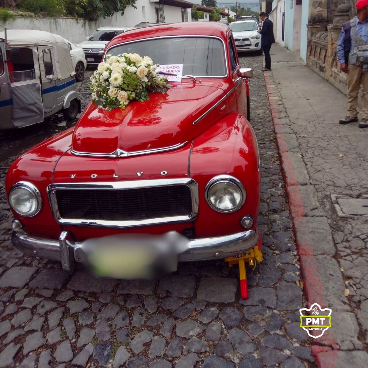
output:
[[[171,231],[164,236],[170,234],[177,238],[184,238],[176,231]],[[84,250],[88,248],[88,243],[91,243],[91,239],[73,241],[71,235],[68,231],[63,231],[59,241],[56,241],[32,237],[20,229],[13,231],[11,241],[15,248],[25,254],[60,261],[64,270],[71,270],[74,262],[81,261]],[[126,238],[125,234],[104,237],[104,244],[109,240],[114,244],[124,243]],[[179,262],[221,259],[242,253],[257,245],[259,234],[257,230],[252,229],[213,238],[184,239],[181,253],[178,255]],[[94,240],[98,243],[99,238]]]

